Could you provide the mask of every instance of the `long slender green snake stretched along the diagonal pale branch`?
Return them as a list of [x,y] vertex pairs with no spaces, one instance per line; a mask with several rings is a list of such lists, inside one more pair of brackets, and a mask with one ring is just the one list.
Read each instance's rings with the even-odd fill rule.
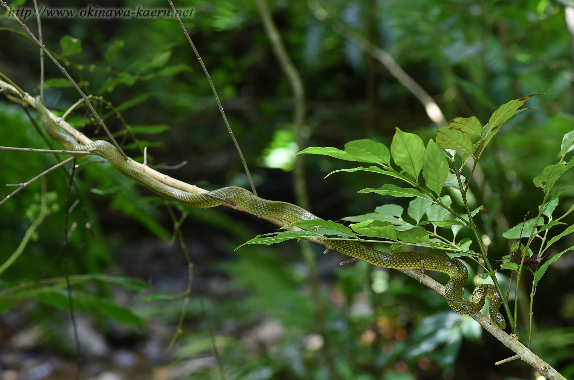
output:
[[[317,218],[312,213],[299,206],[279,201],[269,201],[257,197],[248,190],[241,187],[223,187],[203,194],[192,194],[187,191],[176,189],[165,185],[153,178],[149,174],[138,170],[123,159],[117,148],[111,143],[103,140],[94,141],[91,144],[82,145],[72,136],[60,130],[49,116],[48,110],[36,98],[36,109],[40,114],[42,124],[48,135],[56,140],[68,151],[88,151],[98,153],[107,159],[119,172],[134,182],[139,183],[147,189],[153,191],[162,197],[172,199],[182,205],[192,208],[208,208],[220,206],[223,204],[236,204],[245,209],[246,212],[259,217],[273,217],[286,222],[296,220],[306,220]],[[77,155],[79,158],[85,158],[86,155]],[[379,267],[395,269],[421,269],[430,271],[439,271],[450,276],[445,286],[445,298],[452,310],[463,315],[472,315],[478,313],[484,306],[484,297],[491,298],[492,302],[488,312],[490,318],[498,327],[506,328],[506,321],[499,308],[502,304],[501,297],[497,293],[494,285],[482,284],[476,287],[472,293],[472,301],[463,298],[463,286],[468,278],[468,271],[462,262],[456,259],[449,259],[444,256],[426,254],[423,252],[381,252],[373,250],[358,243],[349,240],[329,240],[331,247],[344,255],[356,259],[364,260],[367,263]]]

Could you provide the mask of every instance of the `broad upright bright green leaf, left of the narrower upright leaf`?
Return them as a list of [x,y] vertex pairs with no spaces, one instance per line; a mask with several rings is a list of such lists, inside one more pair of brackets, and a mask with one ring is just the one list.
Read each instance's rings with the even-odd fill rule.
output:
[[425,144],[414,133],[402,132],[402,130],[396,129],[393,143],[391,143],[393,160],[395,164],[417,179],[425,158]]

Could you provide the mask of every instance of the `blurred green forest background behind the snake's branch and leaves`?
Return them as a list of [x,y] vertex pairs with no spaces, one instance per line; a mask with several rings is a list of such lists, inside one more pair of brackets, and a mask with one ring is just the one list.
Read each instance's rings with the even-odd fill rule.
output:
[[[556,162],[562,136],[574,127],[573,48],[564,3],[321,2],[331,16],[388,51],[432,95],[447,120],[476,116],[485,124],[502,103],[545,93],[526,104],[536,109],[519,114],[502,128],[483,156],[482,172],[471,182],[471,203],[488,209],[479,230],[490,239],[492,259],[510,252],[513,241],[503,239],[502,233],[522,222],[526,212],[538,211],[542,191],[534,187],[532,178]],[[305,145],[342,148],[347,141],[370,138],[388,146],[395,126],[423,140],[436,134],[437,125],[421,103],[381,63],[343,39],[328,20],[320,21],[311,10],[313,2],[273,0],[267,4],[304,82]],[[33,7],[30,0],[17,5]],[[39,5],[169,7],[160,1],[41,1]],[[297,145],[292,91],[255,3],[212,0],[177,1],[175,5],[193,9],[184,24],[210,71],[259,196],[294,202],[291,157]],[[35,96],[40,83],[38,48],[13,32],[21,29],[5,16],[0,16],[0,72]],[[36,33],[36,20],[25,22]],[[121,112],[139,145],[148,147],[150,163],[174,166],[187,161],[176,170],[160,171],[208,190],[249,188],[209,83],[173,17],[44,18],[42,30],[46,47],[83,82],[86,92],[103,97]],[[63,76],[46,60],[46,79],[52,78]],[[369,82],[375,84],[373,92],[367,90]],[[70,87],[61,79],[48,80],[46,106],[63,113],[79,99]],[[105,105],[98,111],[121,139],[121,121]],[[372,122],[366,117],[369,112],[373,112]],[[34,110],[30,113],[37,116]],[[104,136],[82,109],[67,120],[92,138]],[[25,111],[5,97],[0,102],[0,125],[1,145],[48,148]],[[143,160],[131,138],[124,148],[134,159]],[[56,159],[49,154],[2,151],[0,198],[13,190],[3,184],[28,181],[53,164]],[[311,212],[325,220],[339,220],[391,202],[406,209],[408,202],[401,203],[404,199],[356,194],[364,187],[382,186],[386,179],[360,172],[323,178],[347,167],[326,156],[305,157]],[[68,170],[69,166],[46,177],[57,206],[51,206],[51,214],[21,258],[1,275],[2,289],[64,274]],[[572,205],[572,176],[567,172],[555,185],[567,189],[557,206],[559,214]],[[161,295],[185,291],[188,268],[179,242],[172,237],[173,222],[164,200],[106,163],[77,168],[76,185],[82,204],[70,214],[70,223],[75,224],[70,274],[95,275],[78,279],[74,285],[84,358],[82,378],[218,379],[196,284],[182,333],[166,351],[183,297],[169,300]],[[2,262],[20,244],[30,217],[37,214],[40,191],[37,181],[0,206]],[[455,194],[451,197],[456,204]],[[77,198],[72,190],[70,203]],[[276,227],[231,209],[172,207],[177,218],[185,217],[185,244],[199,274],[205,313],[227,378],[448,380],[534,379],[539,375],[523,362],[494,366],[512,352],[413,279],[364,262],[341,267],[346,256],[323,255],[323,248],[316,246],[319,298],[327,331],[323,336],[311,272],[300,244],[235,251],[256,234]],[[564,221],[571,223],[572,218]],[[553,250],[574,245],[572,240],[563,239]],[[107,277],[98,279],[99,274],[121,278],[114,283]],[[533,351],[567,378],[574,378],[573,274],[574,256],[567,253],[550,266],[534,299]],[[443,283],[446,279],[433,276]],[[523,281],[524,302],[519,302],[521,340],[528,336],[529,276]],[[477,278],[476,267],[470,265],[467,288],[472,289]],[[501,276],[503,288],[505,281],[507,273]],[[18,293],[17,302],[11,298],[0,305],[2,379],[71,378],[75,346],[65,286],[33,289]]]

